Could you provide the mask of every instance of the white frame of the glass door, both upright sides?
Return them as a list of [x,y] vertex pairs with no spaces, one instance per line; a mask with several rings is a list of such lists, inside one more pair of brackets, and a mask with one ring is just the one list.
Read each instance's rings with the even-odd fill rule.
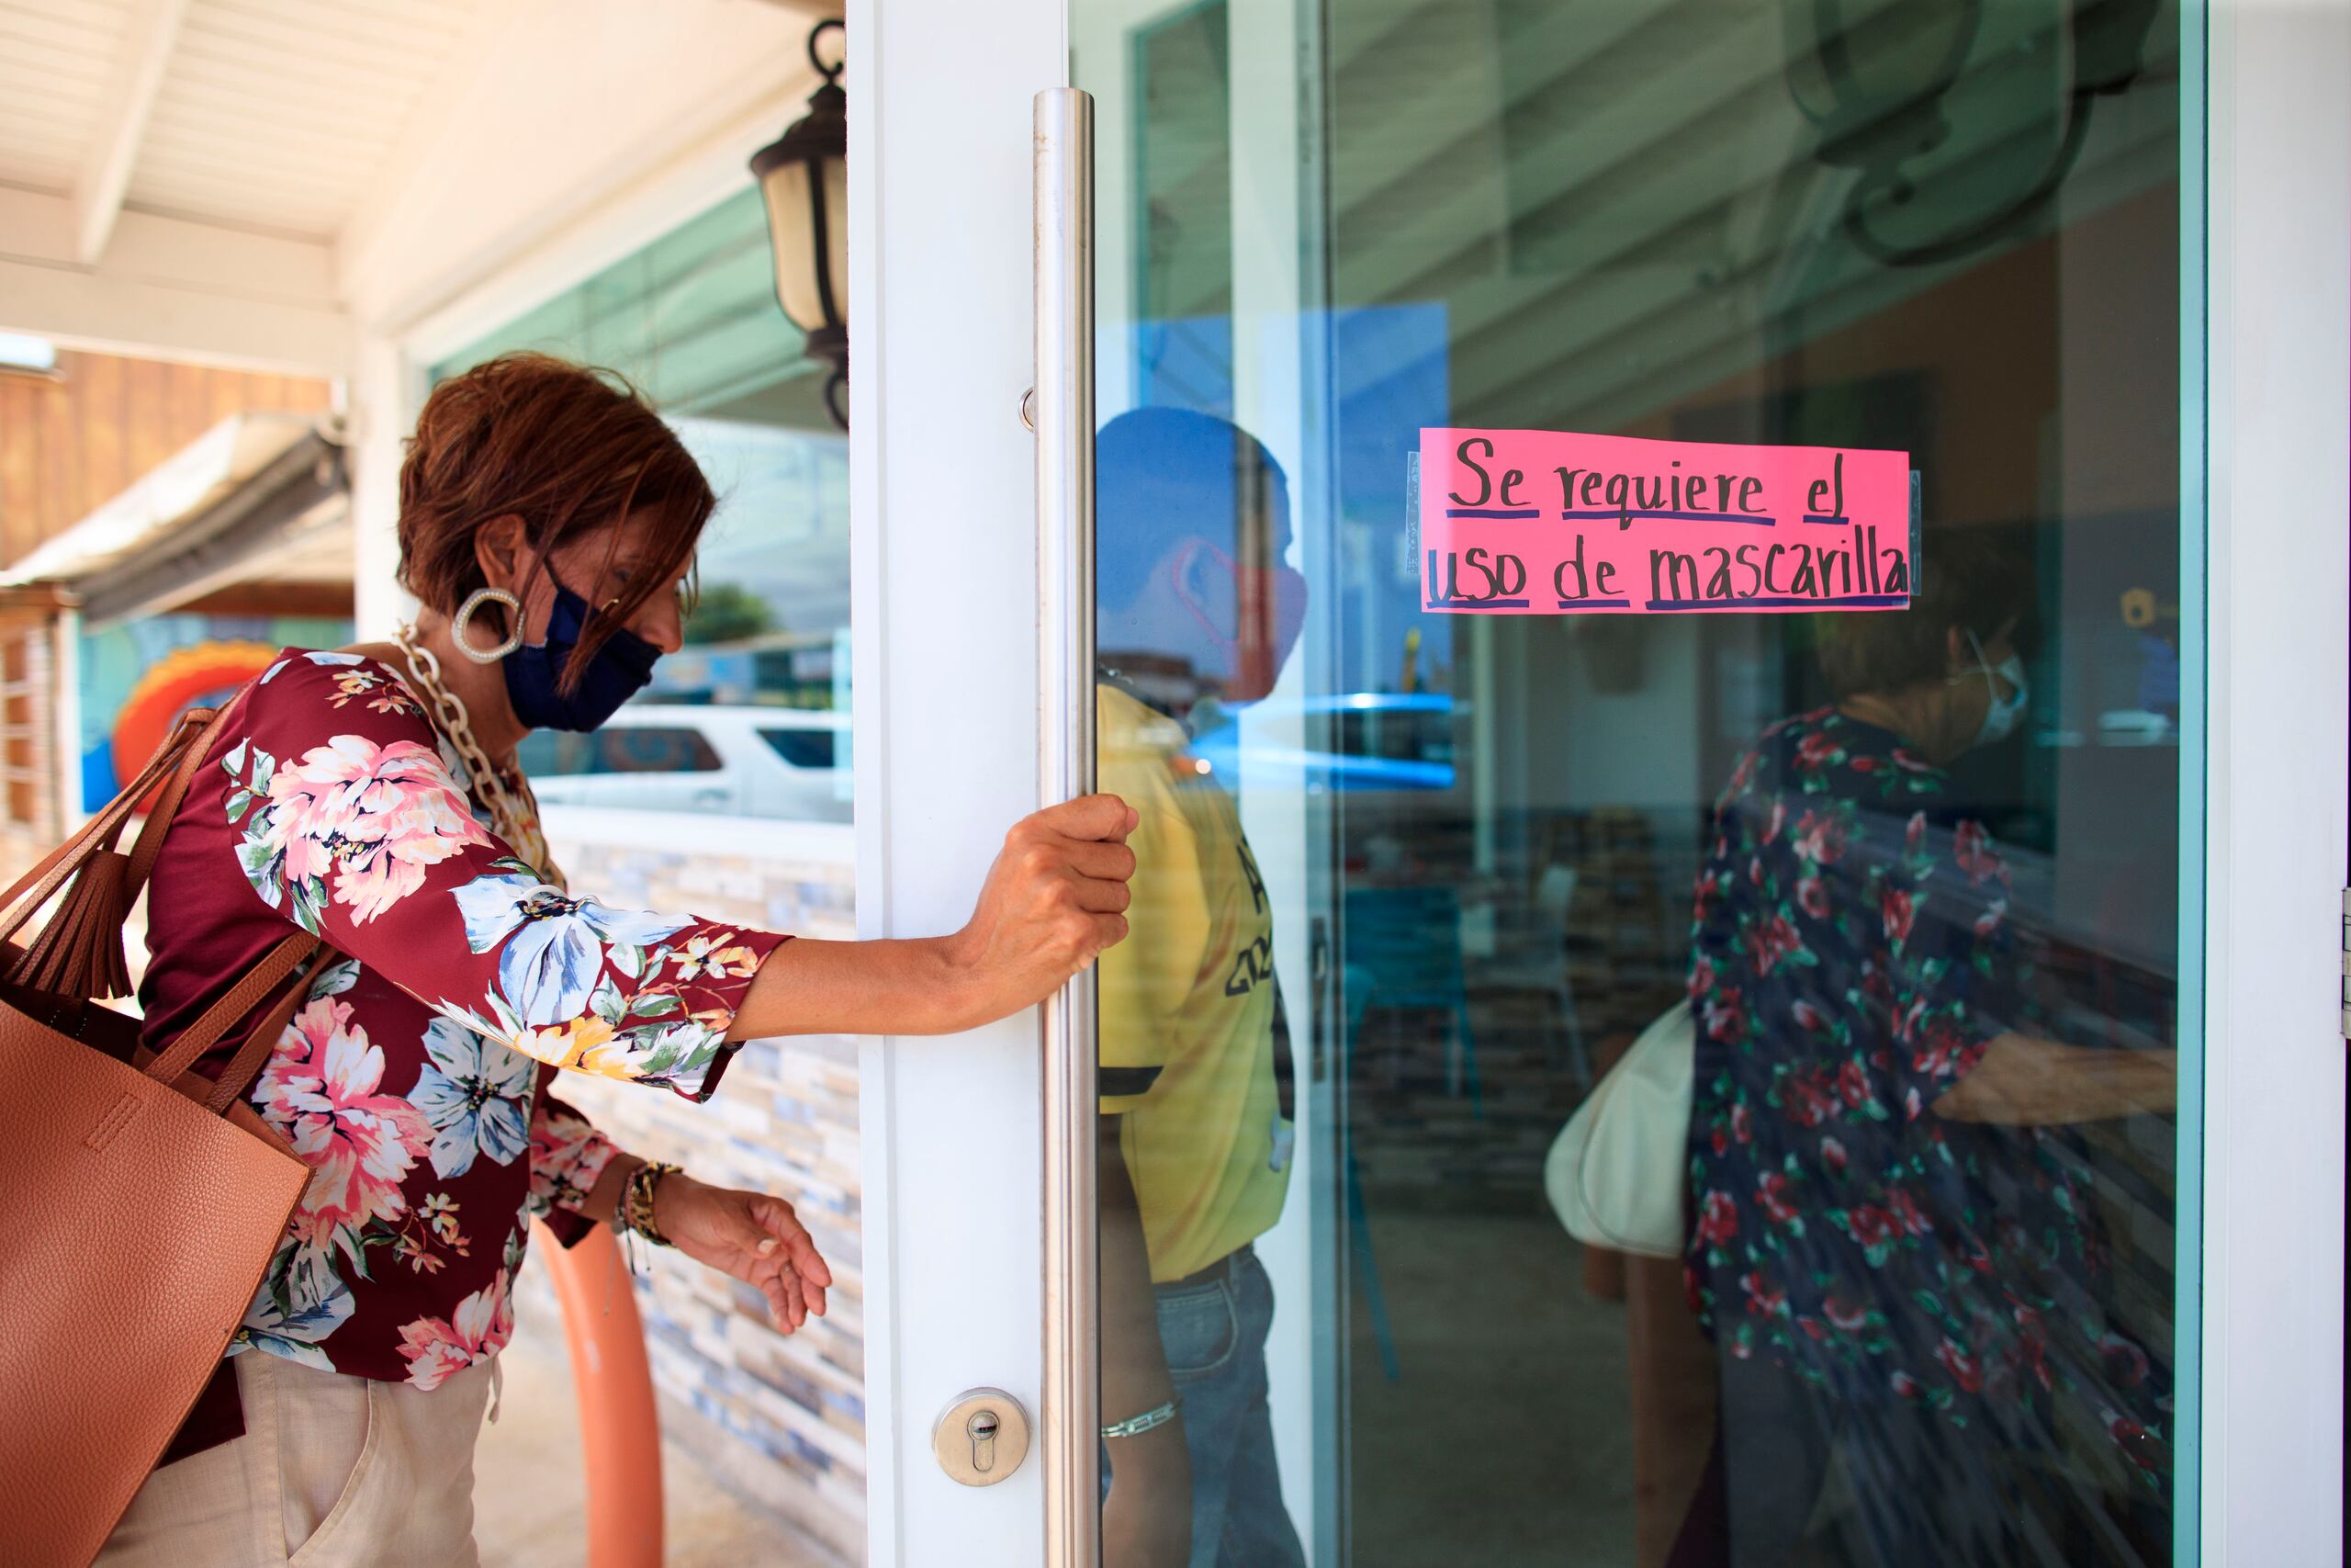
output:
[[[849,5],[865,936],[952,929],[1037,799],[1027,127],[1030,96],[1067,73],[1065,5]],[[2191,82],[2203,21],[2191,7]],[[2201,675],[2208,693],[2184,736],[2205,757],[2182,813],[2205,858],[2182,1009],[2215,1044],[2184,1072],[2205,1135],[2182,1161],[2203,1251],[2179,1321],[2201,1347],[2182,1512],[2201,1561],[2269,1568],[2342,1561],[2351,9],[2208,21],[2208,92],[2182,118],[2210,176],[2184,181],[2182,209],[2182,261],[2208,284],[2208,322],[2182,334],[2184,494],[2208,498],[2205,559],[2182,574],[2205,604],[2189,691]],[[2193,1023],[2182,1039],[2198,1044]],[[1037,1020],[872,1041],[860,1084],[870,1561],[1034,1568],[1034,1465],[964,1490],[929,1432],[971,1385],[1034,1413]]]

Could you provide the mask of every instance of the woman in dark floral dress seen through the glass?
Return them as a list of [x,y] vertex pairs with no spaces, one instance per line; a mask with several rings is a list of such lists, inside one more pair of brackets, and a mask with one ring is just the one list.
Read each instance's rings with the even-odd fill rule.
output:
[[2055,1126],[2170,1110],[2175,1058],[2034,1032],[2008,867],[1942,771],[2024,710],[2020,599],[1935,567],[1907,616],[1829,628],[1846,698],[1716,806],[1688,1281],[1723,1415],[1676,1563],[2132,1561],[2024,1516],[2170,1486],[2168,1368],[2106,1316]]

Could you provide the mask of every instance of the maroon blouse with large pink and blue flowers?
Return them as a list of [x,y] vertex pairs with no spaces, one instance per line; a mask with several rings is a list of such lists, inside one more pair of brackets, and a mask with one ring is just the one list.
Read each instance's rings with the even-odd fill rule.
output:
[[[557,1070],[703,1100],[726,1067],[736,1006],[785,938],[569,896],[489,823],[397,675],[289,651],[165,835],[146,1044],[292,926],[343,954],[252,1088],[313,1175],[230,1354],[421,1389],[494,1356],[531,1218],[576,1241],[585,1222],[555,1211],[614,1157],[548,1091]],[[543,863],[531,827],[520,849]]]

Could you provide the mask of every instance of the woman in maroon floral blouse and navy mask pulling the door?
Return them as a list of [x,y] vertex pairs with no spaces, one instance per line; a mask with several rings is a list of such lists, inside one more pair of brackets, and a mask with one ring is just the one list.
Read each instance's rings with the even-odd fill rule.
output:
[[400,470],[414,625],[289,649],[223,712],[148,891],[143,1044],[320,938],[249,1091],[313,1175],[101,1563],[475,1561],[473,1439],[531,1218],[677,1246],[785,1333],[832,1284],[790,1204],[616,1150],[560,1070],[705,1100],[743,1039],[976,1027],[1126,933],[1133,813],[1100,795],[1016,825],[943,938],[790,940],[562,884],[515,745],[597,729],[679,646],[710,510],[625,383],[491,360],[435,388]]

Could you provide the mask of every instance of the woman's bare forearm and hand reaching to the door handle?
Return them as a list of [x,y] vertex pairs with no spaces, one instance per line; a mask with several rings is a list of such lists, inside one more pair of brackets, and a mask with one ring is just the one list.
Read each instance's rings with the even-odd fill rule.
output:
[[1044,1001],[1126,936],[1133,827],[1117,795],[1020,818],[962,931],[785,943],[752,976],[726,1039],[957,1034]]

